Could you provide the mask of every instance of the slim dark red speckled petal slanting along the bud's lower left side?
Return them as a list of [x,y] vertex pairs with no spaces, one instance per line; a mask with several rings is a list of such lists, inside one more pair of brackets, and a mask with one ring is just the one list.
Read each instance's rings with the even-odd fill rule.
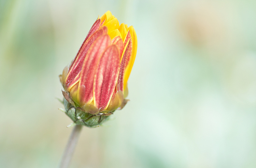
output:
[[[104,31],[102,29],[97,30],[96,32],[94,32],[94,34],[92,34],[88,38],[88,40],[86,40],[86,42],[84,43],[82,49],[80,50],[80,52],[76,58],[73,66],[70,68],[69,73],[67,75],[67,78],[66,78],[66,87],[67,88],[70,89],[75,83],[77,83],[77,80],[74,80],[74,79],[77,77],[77,75],[79,75],[80,71],[82,70],[84,59],[85,59],[85,56],[86,56],[89,48],[91,47],[93,42],[103,34],[104,34]],[[76,79],[79,79],[79,78],[76,78]]]

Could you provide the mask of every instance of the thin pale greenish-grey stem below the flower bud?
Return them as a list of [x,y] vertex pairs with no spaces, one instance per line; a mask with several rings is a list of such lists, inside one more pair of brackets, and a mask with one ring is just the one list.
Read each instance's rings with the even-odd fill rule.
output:
[[61,158],[59,168],[68,168],[81,130],[82,130],[82,125],[75,125],[75,127],[73,128],[73,131],[69,137],[68,144]]

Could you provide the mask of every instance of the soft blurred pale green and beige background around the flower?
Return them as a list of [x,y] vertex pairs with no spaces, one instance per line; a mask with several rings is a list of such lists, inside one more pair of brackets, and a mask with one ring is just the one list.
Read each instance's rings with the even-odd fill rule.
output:
[[83,128],[70,167],[255,168],[254,0],[1,0],[0,167],[58,166],[58,75],[108,10],[138,36],[130,101]]

